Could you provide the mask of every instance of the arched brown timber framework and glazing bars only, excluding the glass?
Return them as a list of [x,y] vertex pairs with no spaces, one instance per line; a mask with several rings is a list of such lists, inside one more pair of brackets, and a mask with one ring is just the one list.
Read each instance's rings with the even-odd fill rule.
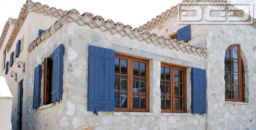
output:
[[[237,52],[238,52],[238,57],[237,58],[231,58],[231,48],[233,47],[237,47]],[[227,52],[230,51],[230,57],[226,57],[226,54]],[[242,57],[241,57],[241,51],[240,51],[240,44],[233,44],[233,45],[230,45],[226,52],[225,52],[225,60],[226,59],[230,59],[230,71],[226,71],[225,70],[225,75],[227,72],[230,72],[230,85],[226,84],[226,79],[225,79],[225,101],[236,101],[236,102],[245,102],[245,83],[244,83],[244,63],[243,63],[243,60],[242,60]],[[232,73],[234,71],[231,70],[231,59],[238,59],[238,77],[239,77],[239,98],[238,99],[235,99],[235,98],[232,98],[232,86],[236,86],[236,85],[232,85]],[[226,64],[225,64],[225,67],[226,67]],[[230,95],[231,95],[231,98],[227,98],[226,97],[226,86],[230,86]]]

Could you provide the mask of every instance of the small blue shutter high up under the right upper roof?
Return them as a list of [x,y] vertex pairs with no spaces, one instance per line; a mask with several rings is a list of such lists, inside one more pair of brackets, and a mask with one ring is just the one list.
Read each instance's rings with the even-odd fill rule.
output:
[[177,30],[177,40],[184,41],[184,42],[191,40],[190,25],[186,25],[185,27]]

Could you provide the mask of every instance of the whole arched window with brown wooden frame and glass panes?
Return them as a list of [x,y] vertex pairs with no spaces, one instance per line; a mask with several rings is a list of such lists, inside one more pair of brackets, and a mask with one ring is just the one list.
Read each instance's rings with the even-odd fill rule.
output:
[[225,100],[245,101],[244,64],[240,55],[240,45],[234,44],[225,53]]

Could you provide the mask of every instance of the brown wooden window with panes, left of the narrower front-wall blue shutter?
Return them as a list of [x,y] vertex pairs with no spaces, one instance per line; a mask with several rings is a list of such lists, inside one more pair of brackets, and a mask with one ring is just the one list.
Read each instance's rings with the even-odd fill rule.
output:
[[186,68],[161,64],[161,111],[186,112]]

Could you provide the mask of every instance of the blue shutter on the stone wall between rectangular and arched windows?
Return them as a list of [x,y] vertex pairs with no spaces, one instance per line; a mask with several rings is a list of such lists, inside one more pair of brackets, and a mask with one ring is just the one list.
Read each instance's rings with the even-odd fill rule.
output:
[[206,70],[191,68],[191,113],[206,113]]

